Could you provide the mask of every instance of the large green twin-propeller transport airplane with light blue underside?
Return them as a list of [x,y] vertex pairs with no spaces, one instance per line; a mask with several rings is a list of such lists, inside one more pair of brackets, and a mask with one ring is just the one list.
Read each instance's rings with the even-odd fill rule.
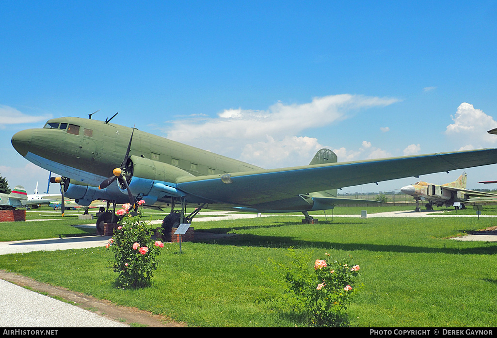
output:
[[107,201],[107,212],[97,220],[99,233],[115,217],[110,203],[114,211],[116,203],[136,205],[141,199],[152,208],[170,206],[163,222],[166,231],[191,222],[196,213],[184,216],[186,206],[197,212],[299,211],[309,218],[308,211],[350,202],[336,197],[337,188],[497,163],[497,149],[344,163],[322,149],[308,166],[262,169],[110,120],[54,118],[11,140],[28,161],[61,174],[57,182],[62,192],[78,204]]

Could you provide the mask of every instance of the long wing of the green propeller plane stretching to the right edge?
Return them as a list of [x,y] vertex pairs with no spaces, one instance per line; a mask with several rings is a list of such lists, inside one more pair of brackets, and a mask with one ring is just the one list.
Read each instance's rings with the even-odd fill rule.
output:
[[256,205],[326,189],[497,163],[497,149],[180,178],[175,188],[199,202]]

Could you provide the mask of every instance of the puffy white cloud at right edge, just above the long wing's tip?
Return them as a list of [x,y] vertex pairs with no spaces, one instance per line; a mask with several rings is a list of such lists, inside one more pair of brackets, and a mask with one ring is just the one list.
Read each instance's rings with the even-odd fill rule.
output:
[[[472,104],[461,103],[457,108],[454,121],[449,124],[445,134],[453,139],[456,145],[468,149],[468,140],[478,148],[493,146],[497,143],[497,136],[488,134],[487,131],[497,128],[497,122],[482,110],[476,109]],[[474,149],[474,148],[473,148]]]

